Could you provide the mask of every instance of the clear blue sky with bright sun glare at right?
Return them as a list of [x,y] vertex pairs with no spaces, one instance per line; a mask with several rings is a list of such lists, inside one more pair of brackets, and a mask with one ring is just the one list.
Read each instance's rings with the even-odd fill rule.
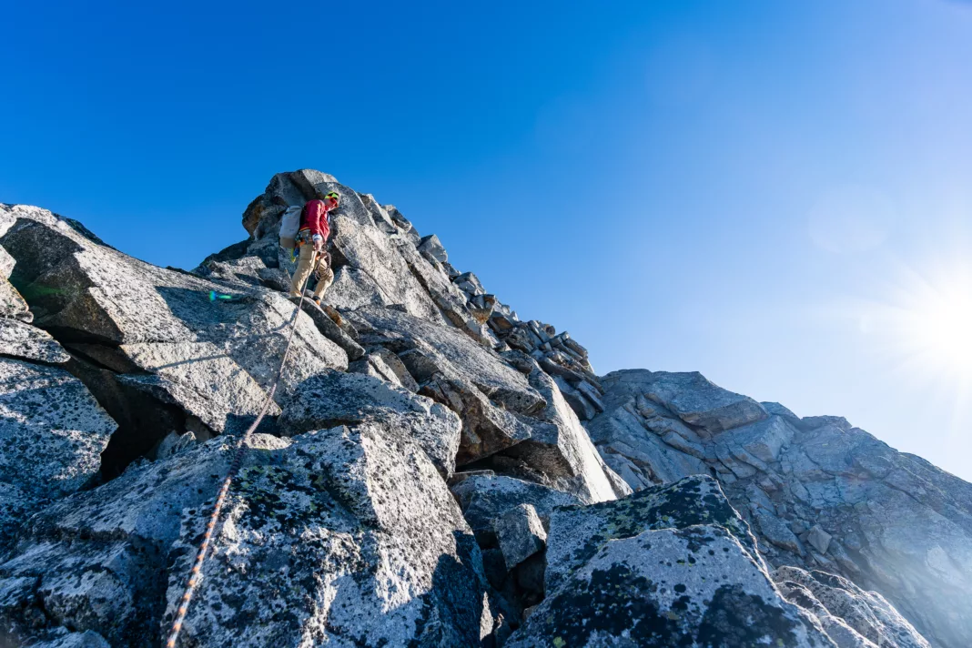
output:
[[972,479],[972,3],[341,5],[8,3],[0,201],[191,268],[317,168],[602,373]]

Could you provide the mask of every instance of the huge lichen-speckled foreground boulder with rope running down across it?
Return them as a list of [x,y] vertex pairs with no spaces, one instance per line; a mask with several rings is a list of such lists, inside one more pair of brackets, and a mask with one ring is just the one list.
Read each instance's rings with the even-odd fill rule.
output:
[[[4,627],[155,645],[233,450],[220,437],[132,466],[35,517],[0,564]],[[256,435],[181,642],[477,646],[485,597],[469,527],[417,445],[375,422]]]

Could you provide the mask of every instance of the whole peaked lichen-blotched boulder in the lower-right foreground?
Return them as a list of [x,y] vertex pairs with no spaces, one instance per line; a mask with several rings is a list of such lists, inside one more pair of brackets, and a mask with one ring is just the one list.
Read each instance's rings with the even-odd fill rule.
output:
[[556,510],[547,597],[506,646],[833,646],[753,548],[711,478]]

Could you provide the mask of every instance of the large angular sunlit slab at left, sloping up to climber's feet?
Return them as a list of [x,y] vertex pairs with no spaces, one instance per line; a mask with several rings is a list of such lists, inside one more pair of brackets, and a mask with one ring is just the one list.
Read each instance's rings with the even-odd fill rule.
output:
[[[276,379],[295,317],[278,402],[310,376],[348,366],[345,351],[278,291],[158,268],[35,207],[0,206],[0,240],[17,259],[11,278],[31,304],[34,324],[106,369],[94,380],[93,369],[69,367],[119,421],[122,436],[152,437],[131,439],[132,448],[151,448],[171,431],[137,425],[133,392],[143,394],[134,396],[142,398],[140,409],[155,409],[158,419],[175,407],[210,433],[248,423]],[[36,333],[5,329],[0,337],[23,354],[51,353]],[[129,395],[116,397],[122,392]]]

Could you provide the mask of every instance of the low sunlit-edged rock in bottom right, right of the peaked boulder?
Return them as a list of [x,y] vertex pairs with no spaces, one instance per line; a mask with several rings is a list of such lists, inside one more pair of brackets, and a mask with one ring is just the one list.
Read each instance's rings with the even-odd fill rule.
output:
[[[872,645],[930,648],[924,637],[885,597],[876,592],[865,592],[846,578],[822,571],[781,567],[773,572],[773,579],[789,600],[815,614],[819,613],[814,608],[822,607],[822,613],[838,619]],[[826,624],[824,628],[827,628]],[[836,638],[834,640],[841,645]]]

